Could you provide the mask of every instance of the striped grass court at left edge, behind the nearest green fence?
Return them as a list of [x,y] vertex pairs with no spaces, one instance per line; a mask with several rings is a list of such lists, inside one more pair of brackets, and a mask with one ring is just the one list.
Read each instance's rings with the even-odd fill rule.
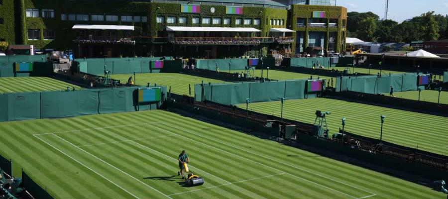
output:
[[39,91],[61,91],[81,87],[47,77],[7,77],[0,78],[0,93],[21,93]]

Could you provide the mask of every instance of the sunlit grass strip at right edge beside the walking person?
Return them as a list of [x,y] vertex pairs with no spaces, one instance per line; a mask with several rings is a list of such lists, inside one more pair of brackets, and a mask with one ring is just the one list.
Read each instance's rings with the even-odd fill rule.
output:
[[[384,93],[384,95],[389,96],[389,93]],[[419,100],[418,91],[394,92],[394,96],[396,98]],[[420,93],[420,100],[437,103],[439,100],[439,91],[424,90]],[[442,91],[440,93],[440,103],[448,104],[448,92]]]

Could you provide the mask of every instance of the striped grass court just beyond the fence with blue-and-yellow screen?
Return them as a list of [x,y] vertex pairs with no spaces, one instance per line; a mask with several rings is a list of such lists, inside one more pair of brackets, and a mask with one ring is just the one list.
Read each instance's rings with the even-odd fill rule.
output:
[[[132,74],[120,74],[112,75],[112,79],[120,80],[121,83],[126,83],[127,79],[132,76]],[[135,75],[135,83],[137,85],[146,86],[148,83],[154,85],[167,86],[168,89],[171,87],[171,92],[179,95],[189,95],[189,85],[191,85],[191,95],[195,95],[195,84],[204,83],[221,83],[221,80],[197,77],[192,75],[185,75],[180,73],[139,73]]]

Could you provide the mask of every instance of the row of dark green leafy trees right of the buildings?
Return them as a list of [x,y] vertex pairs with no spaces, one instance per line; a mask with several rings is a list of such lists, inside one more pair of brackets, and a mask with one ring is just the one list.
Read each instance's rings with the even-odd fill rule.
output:
[[402,23],[380,20],[373,12],[348,12],[347,15],[347,37],[363,41],[409,43],[448,39],[448,15],[434,14],[434,11]]

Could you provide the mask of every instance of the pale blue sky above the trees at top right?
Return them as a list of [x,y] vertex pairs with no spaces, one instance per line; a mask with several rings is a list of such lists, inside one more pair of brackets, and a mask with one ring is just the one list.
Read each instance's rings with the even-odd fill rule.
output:
[[[348,12],[371,11],[384,18],[385,0],[336,0],[336,5],[344,6]],[[389,0],[388,19],[403,22],[427,11],[448,14],[448,0]]]

